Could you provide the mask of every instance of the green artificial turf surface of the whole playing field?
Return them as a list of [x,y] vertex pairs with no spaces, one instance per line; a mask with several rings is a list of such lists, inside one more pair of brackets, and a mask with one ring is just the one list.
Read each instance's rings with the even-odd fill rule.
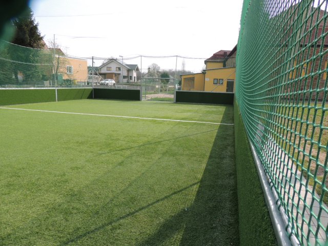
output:
[[[233,107],[10,106],[233,123]],[[233,126],[0,109],[0,245],[238,245]]]

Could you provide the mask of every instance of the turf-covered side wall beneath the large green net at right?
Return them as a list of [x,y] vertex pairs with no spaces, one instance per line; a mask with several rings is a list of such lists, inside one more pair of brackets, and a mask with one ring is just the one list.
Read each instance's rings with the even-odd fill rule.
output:
[[234,101],[234,124],[240,245],[277,245],[236,101]]

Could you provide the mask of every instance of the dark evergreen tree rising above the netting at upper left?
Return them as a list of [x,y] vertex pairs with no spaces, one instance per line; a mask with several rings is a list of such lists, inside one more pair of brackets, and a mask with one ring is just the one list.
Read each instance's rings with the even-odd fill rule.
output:
[[15,37],[12,43],[29,48],[44,48],[43,36],[38,30],[38,23],[35,23],[33,11],[30,8],[12,21],[15,28]]

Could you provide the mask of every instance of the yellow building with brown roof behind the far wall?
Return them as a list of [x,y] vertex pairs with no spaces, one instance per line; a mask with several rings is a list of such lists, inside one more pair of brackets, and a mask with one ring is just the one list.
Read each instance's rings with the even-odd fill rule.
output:
[[236,51],[220,50],[205,60],[201,73],[181,75],[183,91],[234,92],[236,80]]

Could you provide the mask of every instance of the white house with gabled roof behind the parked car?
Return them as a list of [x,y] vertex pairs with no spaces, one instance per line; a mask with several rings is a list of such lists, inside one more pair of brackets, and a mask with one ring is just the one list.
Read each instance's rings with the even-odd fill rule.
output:
[[117,59],[110,59],[98,68],[103,79],[114,79],[116,83],[135,83],[137,71],[138,65],[121,63]]

